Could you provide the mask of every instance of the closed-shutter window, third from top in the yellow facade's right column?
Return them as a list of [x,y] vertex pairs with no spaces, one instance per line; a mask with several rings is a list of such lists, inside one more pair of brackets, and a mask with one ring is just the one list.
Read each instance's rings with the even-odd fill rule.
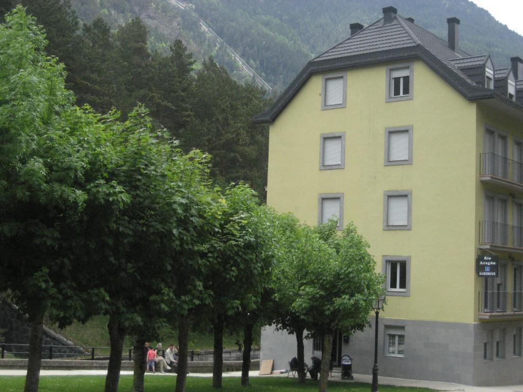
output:
[[412,228],[412,191],[383,192],[383,230]]

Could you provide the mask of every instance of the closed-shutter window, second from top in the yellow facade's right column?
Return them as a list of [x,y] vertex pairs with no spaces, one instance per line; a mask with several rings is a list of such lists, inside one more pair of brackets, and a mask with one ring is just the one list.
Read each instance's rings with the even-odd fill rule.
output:
[[385,166],[412,164],[412,125],[385,128]]

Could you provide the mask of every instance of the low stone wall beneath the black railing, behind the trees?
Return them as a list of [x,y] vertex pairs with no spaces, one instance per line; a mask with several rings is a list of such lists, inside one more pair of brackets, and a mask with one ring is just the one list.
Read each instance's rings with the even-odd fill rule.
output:
[[[42,360],[42,370],[107,370],[108,361],[71,361],[71,360]],[[122,361],[122,370],[132,371],[132,361]],[[251,361],[251,370],[259,370],[259,360]],[[26,359],[0,359],[0,369],[25,370]],[[238,372],[242,370],[242,361],[223,362],[224,372]],[[189,362],[191,373],[212,373],[212,362]]]

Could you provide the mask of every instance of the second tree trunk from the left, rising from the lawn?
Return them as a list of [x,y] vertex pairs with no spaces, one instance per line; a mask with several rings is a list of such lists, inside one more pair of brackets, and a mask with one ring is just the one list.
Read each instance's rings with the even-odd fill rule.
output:
[[120,370],[122,367],[123,339],[126,337],[126,330],[120,324],[118,316],[109,316],[109,340],[111,352],[109,354],[109,366],[105,377],[105,392],[118,392],[118,382],[120,381]]

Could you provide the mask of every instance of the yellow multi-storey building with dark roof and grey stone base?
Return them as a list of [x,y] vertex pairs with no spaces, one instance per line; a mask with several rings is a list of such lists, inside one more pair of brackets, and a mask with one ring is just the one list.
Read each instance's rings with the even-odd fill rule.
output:
[[[381,375],[521,384],[523,60],[495,69],[447,23],[445,41],[386,7],[306,64],[255,118],[270,123],[267,203],[353,221],[371,244],[388,295]],[[483,256],[497,276],[479,275]],[[369,374],[373,347],[372,329],[339,335],[333,359]],[[264,330],[261,359],[294,355],[294,337]]]

